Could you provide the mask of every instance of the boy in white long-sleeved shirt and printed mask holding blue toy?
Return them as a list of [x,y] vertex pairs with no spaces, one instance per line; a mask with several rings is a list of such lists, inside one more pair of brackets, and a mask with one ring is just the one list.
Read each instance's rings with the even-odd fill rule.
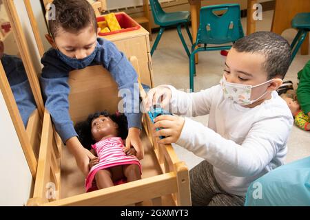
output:
[[189,171],[193,206],[242,206],[251,182],[283,164],[293,117],[276,89],[290,59],[285,39],[256,32],[234,43],[219,85],[191,94],[163,85],[147,94],[148,107],[161,98],[178,115],[209,114],[208,126],[176,115],[154,124],[166,137],[160,143],[205,159]]

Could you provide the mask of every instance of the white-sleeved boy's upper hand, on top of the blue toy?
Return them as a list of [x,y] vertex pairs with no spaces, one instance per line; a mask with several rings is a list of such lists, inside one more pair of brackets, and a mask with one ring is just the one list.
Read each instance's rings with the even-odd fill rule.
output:
[[150,89],[147,93],[145,102],[146,111],[149,111],[154,104],[161,104],[161,107],[165,109],[169,106],[171,96],[172,91],[167,87],[159,86],[154,89]]

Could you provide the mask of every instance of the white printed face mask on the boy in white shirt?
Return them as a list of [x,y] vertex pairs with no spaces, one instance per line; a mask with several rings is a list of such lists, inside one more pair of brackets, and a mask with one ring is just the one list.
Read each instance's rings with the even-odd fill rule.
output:
[[243,85],[243,84],[238,84],[238,83],[228,83],[226,81],[225,76],[223,76],[223,78],[220,80],[220,86],[223,89],[223,94],[224,94],[225,99],[232,100],[236,104],[247,105],[247,104],[253,104],[257,100],[262,98],[262,96],[265,96],[265,94],[267,94],[267,91],[265,91],[265,93],[262,94],[260,97],[256,98],[255,100],[251,100],[252,89],[255,87],[264,85],[266,83],[269,83],[271,81],[272,79],[268,80],[265,83],[252,86],[252,85]]

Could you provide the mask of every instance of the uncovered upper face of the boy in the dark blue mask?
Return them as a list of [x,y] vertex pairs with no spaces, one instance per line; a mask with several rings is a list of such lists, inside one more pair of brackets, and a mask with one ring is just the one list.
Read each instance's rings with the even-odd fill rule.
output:
[[83,59],[94,52],[97,34],[92,25],[79,33],[66,32],[63,28],[59,28],[54,43],[58,50],[66,56]]

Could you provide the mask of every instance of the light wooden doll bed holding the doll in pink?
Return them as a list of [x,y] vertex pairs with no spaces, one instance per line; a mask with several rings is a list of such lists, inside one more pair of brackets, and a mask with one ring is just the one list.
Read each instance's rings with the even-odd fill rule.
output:
[[[130,61],[138,72],[137,59],[131,57]],[[74,123],[95,111],[116,111],[118,89],[103,67],[70,72],[69,83]],[[140,90],[145,98],[141,84]],[[146,114],[141,133],[145,150],[141,160],[143,175],[138,181],[85,193],[84,177],[73,155],[55,140],[50,114],[45,110],[34,194],[28,206],[132,206],[141,201],[143,206],[191,206],[187,166],[178,160],[170,144],[156,144]]]

